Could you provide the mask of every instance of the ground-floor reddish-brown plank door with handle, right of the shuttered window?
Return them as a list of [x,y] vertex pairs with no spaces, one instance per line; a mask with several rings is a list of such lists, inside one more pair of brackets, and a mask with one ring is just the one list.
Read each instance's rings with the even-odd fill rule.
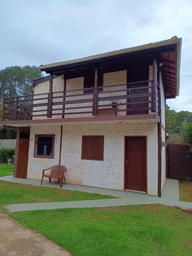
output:
[[125,189],[146,192],[146,137],[125,139]]

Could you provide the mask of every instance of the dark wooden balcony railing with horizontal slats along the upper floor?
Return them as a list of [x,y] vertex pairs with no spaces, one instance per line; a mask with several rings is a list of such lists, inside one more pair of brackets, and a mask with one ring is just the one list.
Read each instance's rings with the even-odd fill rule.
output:
[[148,80],[5,98],[2,121],[159,113],[159,92],[158,84]]

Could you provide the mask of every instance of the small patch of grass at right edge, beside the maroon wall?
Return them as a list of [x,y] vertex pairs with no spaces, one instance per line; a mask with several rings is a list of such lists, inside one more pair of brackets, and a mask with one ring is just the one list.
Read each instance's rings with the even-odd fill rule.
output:
[[179,182],[179,200],[192,202],[192,181],[181,180]]

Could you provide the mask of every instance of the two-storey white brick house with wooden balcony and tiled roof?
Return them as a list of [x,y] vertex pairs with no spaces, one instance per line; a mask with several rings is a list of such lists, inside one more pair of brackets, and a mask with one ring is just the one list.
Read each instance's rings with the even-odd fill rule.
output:
[[[67,183],[161,196],[166,99],[179,94],[181,38],[41,65],[34,95],[4,99],[17,127],[14,177],[66,166]],[[114,104],[112,104],[114,103]]]

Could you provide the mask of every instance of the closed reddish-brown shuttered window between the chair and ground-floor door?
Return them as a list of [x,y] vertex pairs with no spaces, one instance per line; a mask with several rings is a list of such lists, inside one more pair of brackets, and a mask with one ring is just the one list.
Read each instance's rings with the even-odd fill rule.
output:
[[82,136],[81,159],[100,160],[104,158],[104,136]]

